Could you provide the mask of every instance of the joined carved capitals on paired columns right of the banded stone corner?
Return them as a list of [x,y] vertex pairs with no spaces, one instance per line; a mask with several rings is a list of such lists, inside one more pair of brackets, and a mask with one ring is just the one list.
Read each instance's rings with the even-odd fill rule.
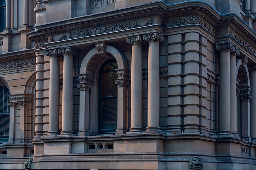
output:
[[241,54],[241,49],[237,47],[234,43],[232,42],[221,42],[216,44],[216,50],[217,51],[230,51],[230,53],[239,56]]

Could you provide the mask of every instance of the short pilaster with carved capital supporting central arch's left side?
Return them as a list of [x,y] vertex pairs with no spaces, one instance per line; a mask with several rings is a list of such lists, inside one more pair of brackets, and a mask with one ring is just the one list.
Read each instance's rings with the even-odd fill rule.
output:
[[79,114],[79,131],[78,136],[88,136],[89,131],[89,114],[90,114],[90,90],[94,86],[93,75],[83,73],[78,74],[79,84],[77,87],[80,91],[80,114]]

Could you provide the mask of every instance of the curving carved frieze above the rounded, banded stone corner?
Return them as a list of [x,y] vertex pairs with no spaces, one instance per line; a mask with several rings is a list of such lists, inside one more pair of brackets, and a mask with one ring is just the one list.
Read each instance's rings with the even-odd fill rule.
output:
[[162,26],[164,28],[169,27],[176,27],[176,26],[183,26],[188,24],[199,24],[202,27],[204,27],[207,31],[215,35],[215,29],[211,27],[207,22],[205,22],[201,17],[199,16],[188,16],[188,17],[182,17],[178,19],[172,19],[172,20],[166,20],[163,22]]

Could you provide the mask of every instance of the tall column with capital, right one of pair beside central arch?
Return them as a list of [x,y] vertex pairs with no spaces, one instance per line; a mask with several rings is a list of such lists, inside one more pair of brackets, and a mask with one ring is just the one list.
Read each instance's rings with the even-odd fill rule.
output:
[[148,42],[148,93],[147,93],[147,130],[160,131],[159,127],[159,43],[164,41],[164,35],[160,32],[143,34],[143,40]]

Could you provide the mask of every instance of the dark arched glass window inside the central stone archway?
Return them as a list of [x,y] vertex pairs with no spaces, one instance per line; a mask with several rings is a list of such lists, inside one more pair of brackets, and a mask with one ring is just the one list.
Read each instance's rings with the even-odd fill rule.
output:
[[115,133],[117,128],[116,69],[116,60],[108,60],[99,72],[99,134]]

